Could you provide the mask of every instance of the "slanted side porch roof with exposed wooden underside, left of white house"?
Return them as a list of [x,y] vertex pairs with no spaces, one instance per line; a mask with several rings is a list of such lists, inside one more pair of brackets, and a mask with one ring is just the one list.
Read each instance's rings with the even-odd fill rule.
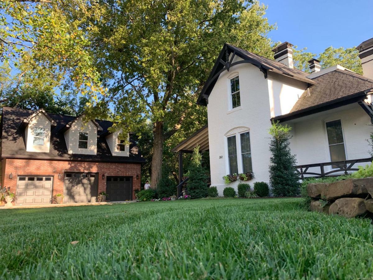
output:
[[187,139],[172,149],[172,152],[192,152],[197,146],[200,146],[200,152],[209,150],[209,127],[204,125]]

